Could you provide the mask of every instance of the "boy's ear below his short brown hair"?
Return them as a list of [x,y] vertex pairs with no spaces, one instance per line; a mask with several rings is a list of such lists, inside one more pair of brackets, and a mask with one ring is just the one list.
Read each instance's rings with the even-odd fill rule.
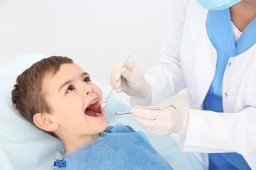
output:
[[58,129],[58,124],[53,122],[47,114],[37,112],[33,115],[33,122],[37,127],[45,131],[54,131]]

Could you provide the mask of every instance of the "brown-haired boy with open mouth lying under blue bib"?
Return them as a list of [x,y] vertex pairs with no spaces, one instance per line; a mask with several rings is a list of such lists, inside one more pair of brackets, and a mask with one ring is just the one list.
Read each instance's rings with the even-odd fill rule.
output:
[[172,169],[144,134],[120,124],[108,127],[98,107],[100,89],[70,58],[52,56],[26,69],[16,79],[12,103],[64,143],[63,169]]

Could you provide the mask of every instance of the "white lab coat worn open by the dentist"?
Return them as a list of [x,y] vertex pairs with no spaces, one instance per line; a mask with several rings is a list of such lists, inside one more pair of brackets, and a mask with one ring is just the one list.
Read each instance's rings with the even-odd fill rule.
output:
[[[173,20],[162,56],[148,70],[151,105],[188,89],[190,122],[183,152],[238,152],[256,169],[256,44],[228,60],[223,80],[224,113],[200,110],[215,75],[217,52],[206,31],[207,10],[196,0],[173,1]],[[132,97],[131,103],[144,101]]]

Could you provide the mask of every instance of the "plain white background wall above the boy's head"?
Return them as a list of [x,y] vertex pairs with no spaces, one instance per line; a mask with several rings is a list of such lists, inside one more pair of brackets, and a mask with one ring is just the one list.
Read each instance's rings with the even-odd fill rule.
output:
[[73,58],[109,85],[129,54],[142,73],[160,57],[172,0],[0,0],[0,64],[41,53]]

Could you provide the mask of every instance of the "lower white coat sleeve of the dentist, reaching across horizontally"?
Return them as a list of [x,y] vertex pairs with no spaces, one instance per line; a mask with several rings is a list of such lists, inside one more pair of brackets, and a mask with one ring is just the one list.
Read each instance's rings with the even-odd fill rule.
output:
[[190,110],[188,133],[183,152],[256,153],[256,109],[218,113]]

